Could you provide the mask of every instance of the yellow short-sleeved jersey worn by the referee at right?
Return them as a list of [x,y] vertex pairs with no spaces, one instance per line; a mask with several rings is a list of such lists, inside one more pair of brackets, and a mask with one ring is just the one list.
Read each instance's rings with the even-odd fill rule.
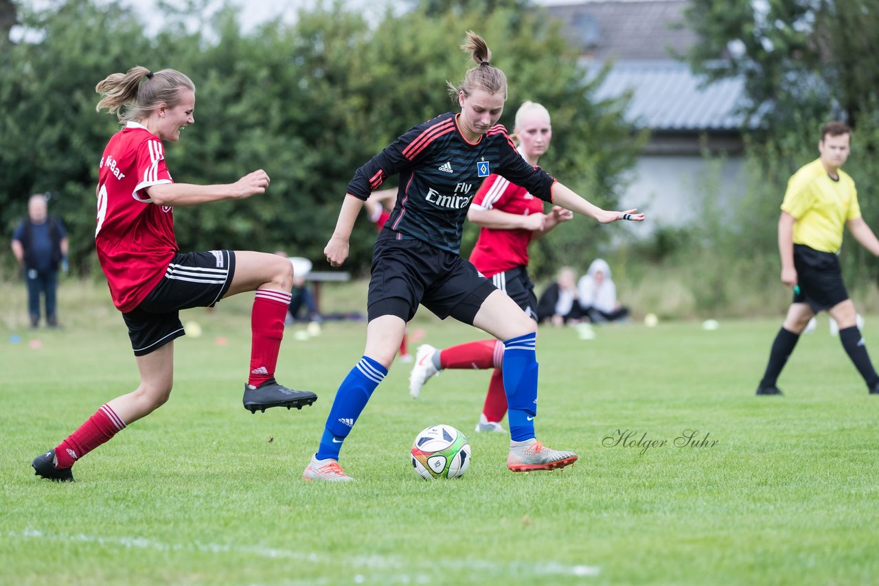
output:
[[833,181],[821,159],[796,171],[788,180],[781,210],[794,216],[794,243],[824,252],[837,252],[842,246],[846,221],[861,217],[858,191],[845,171],[837,170]]

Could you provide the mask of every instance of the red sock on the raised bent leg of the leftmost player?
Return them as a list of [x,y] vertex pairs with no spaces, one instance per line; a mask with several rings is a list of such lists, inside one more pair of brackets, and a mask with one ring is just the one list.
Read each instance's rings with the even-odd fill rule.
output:
[[290,299],[288,291],[257,289],[251,311],[251,374],[247,380],[254,387],[274,378]]

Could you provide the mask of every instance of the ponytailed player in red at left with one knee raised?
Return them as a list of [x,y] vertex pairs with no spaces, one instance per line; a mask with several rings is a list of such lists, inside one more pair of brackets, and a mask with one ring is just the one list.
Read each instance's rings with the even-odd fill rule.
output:
[[317,399],[274,380],[293,265],[286,258],[242,250],[181,254],[174,236],[176,207],[264,193],[269,176],[256,170],[233,184],[174,183],[163,141],[178,141],[183,128],[195,124],[195,86],[174,69],[153,73],[134,67],[106,77],[95,90],[102,96],[98,112],[106,108],[126,125],[107,143],[100,160],[95,245],[113,304],[128,327],[141,383],[33,460],[36,474],[53,481],[73,481],[76,460],[168,400],[173,340],[185,334],[180,309],[211,307],[229,295],[256,291],[244,408],[301,409]]

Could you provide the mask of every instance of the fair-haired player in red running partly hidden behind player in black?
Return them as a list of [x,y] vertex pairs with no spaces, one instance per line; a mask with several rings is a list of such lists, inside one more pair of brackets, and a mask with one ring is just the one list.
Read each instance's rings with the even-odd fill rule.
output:
[[[552,141],[547,109],[530,101],[522,104],[516,112],[512,138],[518,141],[522,157],[537,166]],[[534,322],[537,321],[537,300],[534,284],[527,273],[528,245],[561,222],[569,221],[573,215],[561,206],[553,206],[550,213],[543,213],[541,199],[499,175],[485,179],[467,214],[469,221],[483,227],[476,248],[470,253],[470,262],[498,289],[512,297]],[[444,350],[422,344],[418,346],[410,373],[409,392],[413,398],[418,398],[425,382],[444,368],[493,368],[476,431],[505,432],[500,424],[506,414],[503,359],[504,343],[496,339]]]

